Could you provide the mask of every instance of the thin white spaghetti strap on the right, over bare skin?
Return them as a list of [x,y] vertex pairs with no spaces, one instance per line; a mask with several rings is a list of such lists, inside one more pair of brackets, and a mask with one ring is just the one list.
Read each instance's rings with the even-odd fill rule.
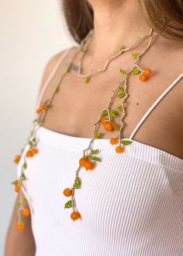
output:
[[150,107],[149,110],[147,110],[147,113],[143,115],[140,122],[136,125],[136,128],[133,130],[132,134],[129,136],[129,139],[133,139],[133,136],[136,134],[137,130],[140,128],[141,124],[143,124],[143,121],[147,118],[147,116],[150,114],[152,110],[154,110],[154,107],[157,106],[157,104],[163,99],[163,97],[178,83],[179,80],[183,78],[183,73],[178,76],[177,79],[174,80],[174,82],[171,83],[170,86],[167,87],[167,89],[164,90],[164,93],[159,96],[159,98],[153,103],[153,105]]

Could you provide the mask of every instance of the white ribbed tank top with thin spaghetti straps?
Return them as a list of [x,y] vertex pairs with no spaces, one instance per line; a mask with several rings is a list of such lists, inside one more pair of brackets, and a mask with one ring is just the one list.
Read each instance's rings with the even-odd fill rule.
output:
[[[67,55],[64,52],[60,61]],[[43,86],[37,106],[57,67]],[[151,110],[183,77],[183,73],[150,107]],[[75,193],[82,219],[70,218],[64,188],[73,184],[74,170],[90,138],[40,127],[40,152],[27,159],[24,193],[31,210],[36,256],[182,256],[183,160],[161,149],[136,142],[123,154],[114,153],[109,139],[95,139],[99,149],[95,171],[80,171]],[[22,156],[25,156],[26,149]],[[22,159],[17,168],[18,177]]]

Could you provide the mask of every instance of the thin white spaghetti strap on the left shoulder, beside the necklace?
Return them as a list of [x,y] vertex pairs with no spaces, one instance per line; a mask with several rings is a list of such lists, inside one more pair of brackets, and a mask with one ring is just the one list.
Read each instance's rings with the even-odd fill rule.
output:
[[50,82],[50,80],[54,77],[54,74],[57,72],[57,69],[60,66],[60,63],[62,61],[64,61],[64,58],[67,56],[68,52],[71,50],[71,47],[68,47],[65,49],[64,53],[60,56],[60,59],[57,61],[57,64],[55,65],[54,69],[52,70],[52,72],[50,73],[50,75],[48,76],[46,82],[43,84],[43,87],[39,93],[39,95],[37,96],[37,100],[36,100],[36,109],[40,106],[40,100],[42,99],[43,93],[45,92],[45,90],[47,89],[47,86]]

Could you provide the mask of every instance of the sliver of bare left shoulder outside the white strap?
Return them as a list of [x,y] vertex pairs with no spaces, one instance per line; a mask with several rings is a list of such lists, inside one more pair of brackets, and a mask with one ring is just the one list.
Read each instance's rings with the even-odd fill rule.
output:
[[40,88],[39,88],[39,93],[41,89],[43,88],[43,85],[45,84],[45,82],[47,81],[47,79],[49,78],[51,72],[53,72],[54,68],[56,67],[58,61],[60,60],[60,58],[63,56],[63,54],[65,53],[65,51],[67,51],[67,49],[69,51],[73,51],[74,50],[74,46],[70,47],[70,48],[65,48],[62,51],[57,52],[56,54],[54,54],[54,56],[52,56],[48,61],[47,64],[45,65],[45,68],[43,70],[43,75],[42,75],[42,79],[40,82]]

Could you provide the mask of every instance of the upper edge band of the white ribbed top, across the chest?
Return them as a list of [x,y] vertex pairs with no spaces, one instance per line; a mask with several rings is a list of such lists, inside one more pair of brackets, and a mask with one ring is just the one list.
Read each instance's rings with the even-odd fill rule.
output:
[[[57,148],[67,149],[73,152],[80,152],[81,156],[83,150],[88,148],[89,142],[91,141],[91,138],[65,135],[43,126],[38,128],[36,136],[38,137],[38,141],[40,140],[43,144],[56,146]],[[128,146],[124,146],[124,153],[122,154],[116,154],[115,146],[112,146],[109,143],[109,139],[95,139],[92,148],[99,149],[98,156],[100,155],[100,152],[110,156],[118,155],[118,157],[130,155],[144,161],[156,163],[157,165],[164,165],[164,167],[167,167],[168,169],[178,170],[183,174],[183,160],[178,156],[174,156],[162,149],[149,146],[142,142],[137,142],[133,139],[128,140],[133,143]]]

